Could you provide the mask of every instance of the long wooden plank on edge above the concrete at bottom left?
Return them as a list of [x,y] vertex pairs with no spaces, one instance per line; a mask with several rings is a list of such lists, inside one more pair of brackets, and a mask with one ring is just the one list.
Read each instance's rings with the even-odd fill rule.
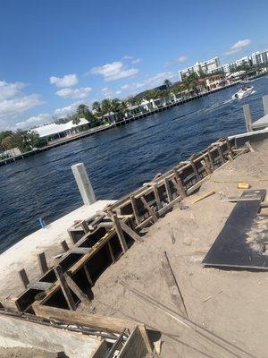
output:
[[38,317],[43,317],[48,320],[62,320],[65,323],[74,324],[78,326],[86,326],[89,328],[99,328],[111,332],[121,333],[123,328],[128,328],[130,331],[135,329],[137,322],[131,320],[120,320],[107,316],[90,315],[85,312],[69,311],[60,308],[49,307],[38,302],[33,304],[33,310]]

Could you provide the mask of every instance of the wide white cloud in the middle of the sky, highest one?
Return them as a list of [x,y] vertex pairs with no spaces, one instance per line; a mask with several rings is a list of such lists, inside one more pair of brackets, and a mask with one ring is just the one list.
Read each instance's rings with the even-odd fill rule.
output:
[[129,68],[121,61],[114,61],[112,64],[93,67],[88,73],[99,74],[104,77],[105,81],[114,81],[134,76],[138,71],[138,68]]

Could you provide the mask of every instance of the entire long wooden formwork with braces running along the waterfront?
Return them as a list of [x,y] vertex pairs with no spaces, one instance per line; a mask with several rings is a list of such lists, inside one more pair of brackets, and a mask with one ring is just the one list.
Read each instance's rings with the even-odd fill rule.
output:
[[[139,230],[155,223],[196,191],[214,170],[237,156],[233,146],[234,141],[216,141],[104,211],[75,222],[68,229],[73,246],[69,249],[62,243],[65,252],[53,268],[47,268],[44,256],[39,255],[42,275],[34,283],[29,283],[25,271],[21,270],[25,291],[15,298],[0,299],[2,306],[13,311],[32,311],[32,304],[38,300],[39,305],[75,310],[83,294],[90,300],[91,287],[105,268],[118,260],[134,241],[142,242]],[[69,282],[70,278],[73,282],[71,290],[64,283],[66,274]]]

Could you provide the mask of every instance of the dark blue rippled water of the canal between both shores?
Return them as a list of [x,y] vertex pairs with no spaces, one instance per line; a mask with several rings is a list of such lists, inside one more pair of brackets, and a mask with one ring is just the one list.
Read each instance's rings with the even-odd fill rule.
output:
[[242,105],[263,115],[268,78],[232,100],[237,87],[0,167],[0,251],[81,205],[71,165],[84,162],[98,199],[119,199],[219,137],[245,132]]

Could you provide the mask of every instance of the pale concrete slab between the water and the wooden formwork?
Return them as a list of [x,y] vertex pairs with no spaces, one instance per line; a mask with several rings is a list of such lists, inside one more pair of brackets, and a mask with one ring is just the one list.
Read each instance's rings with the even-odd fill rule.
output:
[[30,280],[35,280],[40,276],[38,253],[45,251],[48,266],[52,266],[54,256],[63,253],[60,243],[65,240],[71,246],[67,228],[73,224],[73,221],[90,217],[97,210],[103,210],[106,205],[113,202],[113,200],[97,200],[92,205],[84,205],[55,220],[46,229],[29,234],[19,243],[4,251],[0,255],[0,296],[6,298],[20,294],[23,291],[18,275],[21,268],[25,268],[27,273],[29,271]]

